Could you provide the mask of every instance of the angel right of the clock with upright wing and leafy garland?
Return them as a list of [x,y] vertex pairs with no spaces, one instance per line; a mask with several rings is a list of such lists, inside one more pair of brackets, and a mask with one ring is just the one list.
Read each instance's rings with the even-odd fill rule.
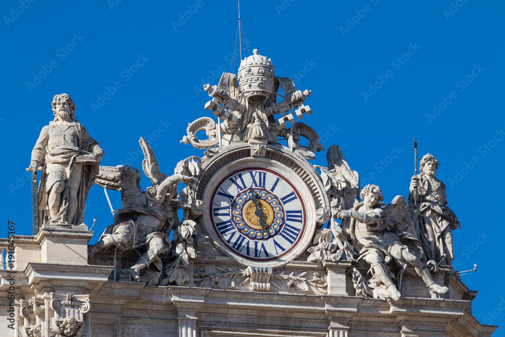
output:
[[428,266],[437,265],[426,259],[405,198],[396,196],[386,205],[379,186],[372,184],[360,192],[359,175],[349,168],[338,146],[328,150],[327,161],[327,168],[317,168],[330,199],[331,220],[329,228],[314,236],[308,261],[364,261],[370,265],[371,278],[367,281],[356,266],[352,277],[357,295],[365,297],[398,300],[401,277],[393,282],[395,267],[399,275],[411,267],[431,293],[446,293],[447,287],[433,281]]

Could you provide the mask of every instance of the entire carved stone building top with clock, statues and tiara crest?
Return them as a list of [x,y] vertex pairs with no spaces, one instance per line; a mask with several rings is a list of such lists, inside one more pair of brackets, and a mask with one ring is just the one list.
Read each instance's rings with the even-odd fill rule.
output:
[[[130,166],[93,171],[103,151],[91,138],[94,152],[77,142],[60,180],[35,156],[29,170],[45,170],[34,184],[35,235],[0,239],[0,293],[12,300],[0,308],[10,324],[0,325],[2,336],[491,335],[496,326],[472,316],[477,292],[451,265],[451,230],[461,224],[446,207],[435,157],[423,157],[409,196],[389,204],[379,186],[360,186],[338,146],[328,149],[327,167],[310,164],[323,146],[294,119],[312,115],[304,105],[311,91],[253,54],[238,75],[205,86],[218,123],[199,118],[181,140],[206,149],[203,158],[167,175],[140,138],[153,183],[145,191]],[[55,102],[65,119],[55,125],[76,136],[74,103],[68,95]],[[54,142],[51,151],[67,150]],[[86,188],[65,188],[60,200],[45,186],[73,186],[72,172],[83,174],[73,163],[90,166],[75,180]],[[93,232],[67,202],[84,205],[90,182],[122,197],[92,246]]]

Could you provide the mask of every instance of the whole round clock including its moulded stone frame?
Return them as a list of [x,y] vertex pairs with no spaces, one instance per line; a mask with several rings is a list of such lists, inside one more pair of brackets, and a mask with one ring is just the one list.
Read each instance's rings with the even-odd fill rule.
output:
[[202,167],[201,224],[240,264],[277,267],[304,253],[328,200],[315,169],[282,146],[250,157],[248,144],[222,149]]

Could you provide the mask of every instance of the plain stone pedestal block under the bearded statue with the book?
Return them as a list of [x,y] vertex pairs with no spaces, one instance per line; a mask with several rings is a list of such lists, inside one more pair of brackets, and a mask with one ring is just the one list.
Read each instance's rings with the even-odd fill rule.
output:
[[85,225],[45,226],[37,234],[40,262],[86,265],[92,236]]

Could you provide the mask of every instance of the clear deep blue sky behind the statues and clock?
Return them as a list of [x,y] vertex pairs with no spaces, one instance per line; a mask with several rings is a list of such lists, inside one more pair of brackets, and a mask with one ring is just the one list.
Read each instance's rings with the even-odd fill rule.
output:
[[[236,2],[9,0],[0,14],[2,213],[18,234],[31,232],[25,168],[40,129],[53,119],[57,93],[71,95],[77,118],[105,151],[102,165],[141,168],[140,136],[167,174],[179,160],[202,155],[179,140],[187,123],[209,116],[203,85],[217,84],[231,69]],[[420,157],[438,159],[437,177],[462,223],[453,231],[459,269],[479,265],[462,276],[479,291],[473,314],[493,325],[505,321],[505,290],[494,286],[505,276],[497,263],[505,232],[498,184],[505,153],[503,16],[504,3],[475,0],[241,3],[250,53],[259,49],[277,76],[312,90],[306,104],[313,114],[302,122],[319,132],[325,149],[342,148],[362,186],[378,184],[385,201],[406,196],[413,137]],[[325,162],[323,152],[313,161]],[[141,185],[149,185],[145,176]],[[119,194],[110,197],[119,208]],[[112,221],[96,185],[85,223],[93,218],[95,242]]]

